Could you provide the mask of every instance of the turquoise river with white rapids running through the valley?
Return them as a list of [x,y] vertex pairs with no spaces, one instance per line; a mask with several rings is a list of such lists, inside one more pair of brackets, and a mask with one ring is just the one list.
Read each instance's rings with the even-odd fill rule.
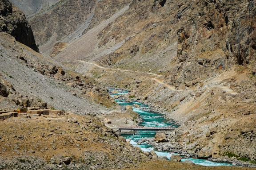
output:
[[[118,93],[112,93],[114,91],[117,91]],[[127,95],[129,92],[128,90],[122,90],[122,89],[109,89],[110,95],[114,97],[115,95],[123,96]],[[174,121],[167,120],[164,118],[164,115],[161,113],[156,112],[150,112],[148,105],[143,104],[140,102],[132,101],[127,102],[124,99],[116,99],[116,102],[121,106],[127,106],[131,105],[134,112],[137,112],[140,114],[142,121],[140,122],[139,126],[145,126],[145,127],[179,127]],[[133,107],[134,104],[138,104],[140,108]],[[152,151],[154,150],[154,147],[149,144],[140,144],[138,145],[137,142],[139,139],[142,138],[153,138],[156,135],[156,132],[147,132],[141,131],[136,135],[124,135],[124,137],[130,141],[130,143],[136,147],[140,147],[142,151]],[[166,156],[168,159],[170,159],[171,155],[176,154],[172,152],[167,151],[155,151],[158,156]],[[212,162],[205,159],[194,159],[194,158],[183,158],[181,161],[190,160],[195,164],[203,165],[203,166],[231,166],[232,164],[229,163],[222,163],[222,162]]]

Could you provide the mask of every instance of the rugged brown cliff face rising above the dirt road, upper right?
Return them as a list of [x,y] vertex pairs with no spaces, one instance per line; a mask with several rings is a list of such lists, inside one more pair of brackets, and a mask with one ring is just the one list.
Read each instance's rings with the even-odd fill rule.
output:
[[[177,63],[182,66],[173,70],[176,74],[171,78],[176,81],[173,85],[192,81],[198,73],[194,65],[205,72],[209,69],[214,72],[255,62],[255,1],[198,1],[180,8],[186,12],[177,17],[185,19],[186,24],[177,31]],[[188,62],[191,63],[185,65]]]

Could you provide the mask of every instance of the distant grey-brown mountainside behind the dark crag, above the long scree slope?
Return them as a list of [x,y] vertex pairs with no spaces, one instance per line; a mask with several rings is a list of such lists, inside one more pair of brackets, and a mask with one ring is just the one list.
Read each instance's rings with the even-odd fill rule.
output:
[[[44,1],[38,3],[42,6]],[[53,47],[56,50],[59,46],[58,42],[72,42],[128,3],[129,0],[60,0],[51,8],[38,11],[29,22],[40,51],[52,54]]]

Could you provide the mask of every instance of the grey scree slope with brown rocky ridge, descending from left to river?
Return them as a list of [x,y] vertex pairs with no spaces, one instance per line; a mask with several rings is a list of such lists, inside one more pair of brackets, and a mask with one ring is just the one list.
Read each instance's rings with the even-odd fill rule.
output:
[[[0,35],[1,77],[15,89],[9,91],[10,95],[1,103],[1,109],[6,106],[19,107],[12,100],[19,97],[24,97],[27,102],[29,98],[42,100],[48,104],[48,107],[80,114],[98,113],[101,109],[104,111],[100,105],[93,104],[94,101],[108,107],[113,104],[108,99],[108,92],[90,77],[65,69],[51,58],[16,42],[10,35],[5,33]],[[13,63],[15,63],[14,67],[10,67]],[[4,101],[8,101],[9,104]]]

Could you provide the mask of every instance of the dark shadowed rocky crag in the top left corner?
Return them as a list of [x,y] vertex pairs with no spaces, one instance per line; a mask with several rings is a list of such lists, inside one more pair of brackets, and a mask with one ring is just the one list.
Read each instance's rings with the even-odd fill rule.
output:
[[0,0],[0,31],[7,32],[17,41],[39,51],[25,15],[8,0]]

